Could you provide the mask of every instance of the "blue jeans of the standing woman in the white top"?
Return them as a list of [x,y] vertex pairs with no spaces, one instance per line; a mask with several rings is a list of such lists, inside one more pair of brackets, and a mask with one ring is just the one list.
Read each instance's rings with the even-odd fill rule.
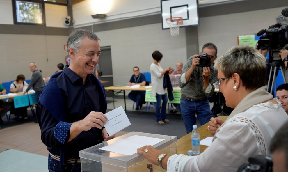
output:
[[[162,103],[162,108],[161,108],[161,112],[160,112],[161,99],[162,99],[163,103]],[[166,93],[165,94],[157,94],[156,93],[156,105],[155,105],[156,121],[161,121],[161,120],[166,119],[167,102],[168,102],[168,98],[167,98]]]

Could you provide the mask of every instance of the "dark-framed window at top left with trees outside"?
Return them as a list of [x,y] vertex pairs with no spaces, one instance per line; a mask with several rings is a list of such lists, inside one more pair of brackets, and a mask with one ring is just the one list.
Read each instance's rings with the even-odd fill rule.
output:
[[67,0],[12,0],[14,24],[45,25],[44,3],[67,5]]

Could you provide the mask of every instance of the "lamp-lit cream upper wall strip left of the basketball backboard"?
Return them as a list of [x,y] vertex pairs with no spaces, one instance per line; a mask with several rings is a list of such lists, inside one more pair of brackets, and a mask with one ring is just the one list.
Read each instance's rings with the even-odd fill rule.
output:
[[[161,11],[160,0],[86,0],[77,3],[72,6],[73,17],[76,27],[91,24],[91,23],[101,23],[108,22],[115,19],[123,19],[126,17],[132,17],[137,15],[145,15],[147,13],[159,12]],[[158,8],[155,8],[158,7]],[[145,10],[149,8],[154,8],[150,10]],[[143,11],[139,11],[143,10]],[[132,12],[133,13],[127,13]],[[106,14],[105,19],[93,19],[91,15],[94,14]],[[122,14],[126,13],[126,14]],[[111,16],[113,15],[113,16]]]

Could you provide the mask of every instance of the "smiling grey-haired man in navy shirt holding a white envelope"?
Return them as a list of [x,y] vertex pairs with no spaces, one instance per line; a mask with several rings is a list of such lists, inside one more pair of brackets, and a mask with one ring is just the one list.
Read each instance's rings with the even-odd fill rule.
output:
[[[51,76],[39,98],[37,118],[49,171],[81,171],[79,150],[115,137],[103,127],[104,86],[92,74],[101,53],[98,40],[88,30],[74,31],[67,42],[70,65]],[[92,171],[101,170],[100,164],[92,166]]]

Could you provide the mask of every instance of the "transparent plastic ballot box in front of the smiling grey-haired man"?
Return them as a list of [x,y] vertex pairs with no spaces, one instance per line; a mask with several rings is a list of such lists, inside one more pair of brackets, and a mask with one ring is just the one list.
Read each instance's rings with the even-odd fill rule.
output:
[[[165,139],[155,145],[154,148],[162,150],[168,155],[176,154],[176,136],[165,136],[159,134],[149,134],[142,132],[130,132],[112,140],[105,141],[98,145],[79,151],[81,159],[81,171],[150,171],[147,168],[148,162],[142,155],[137,153],[129,156],[120,153],[114,153],[99,148],[111,145],[120,139],[126,139],[130,136],[146,136],[158,139]],[[153,171],[166,171],[158,165],[152,164]]]

